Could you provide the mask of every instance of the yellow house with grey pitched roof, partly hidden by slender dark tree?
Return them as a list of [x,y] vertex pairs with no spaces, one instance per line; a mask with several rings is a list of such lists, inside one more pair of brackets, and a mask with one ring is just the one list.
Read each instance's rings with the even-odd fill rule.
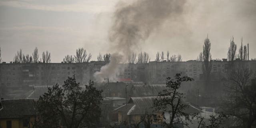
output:
[[[164,112],[164,117],[162,112],[153,112],[152,106],[154,104],[154,99],[156,97],[131,97],[128,104],[116,108],[114,111],[118,112],[118,122],[127,122],[128,124],[136,124],[141,121],[143,115],[150,115],[152,124],[161,124],[166,122],[170,123],[170,114]],[[188,103],[184,103],[188,104]],[[188,104],[188,108],[184,112],[188,114],[200,113],[200,110]],[[192,116],[182,117],[183,120],[192,119]]]

